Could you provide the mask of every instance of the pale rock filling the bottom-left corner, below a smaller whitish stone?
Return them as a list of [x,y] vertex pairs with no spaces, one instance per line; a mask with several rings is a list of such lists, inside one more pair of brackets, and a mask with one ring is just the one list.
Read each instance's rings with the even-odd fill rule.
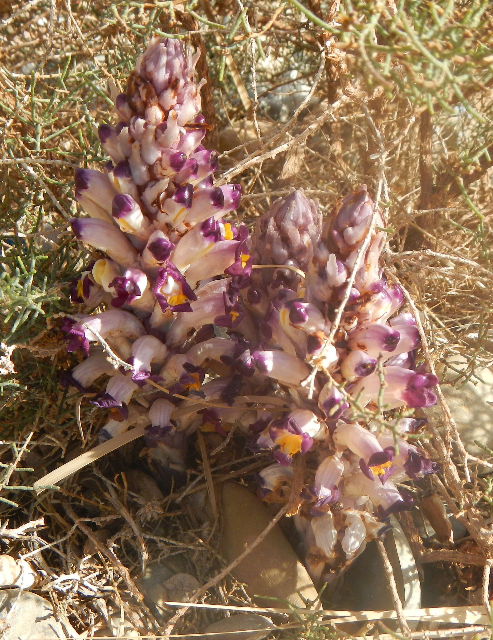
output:
[[0,591],[2,640],[54,640],[66,637],[50,602],[29,591]]

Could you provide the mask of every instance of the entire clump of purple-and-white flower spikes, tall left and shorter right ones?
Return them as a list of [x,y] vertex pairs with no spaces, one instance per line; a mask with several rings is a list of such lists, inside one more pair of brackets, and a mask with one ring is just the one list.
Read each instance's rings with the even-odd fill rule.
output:
[[[72,227],[104,255],[74,283],[72,299],[106,310],[65,321],[68,350],[82,349],[86,360],[63,381],[96,392],[104,375],[92,399],[109,410],[104,437],[146,425],[163,478],[184,471],[195,429],[225,435],[235,422],[251,451],[272,451],[258,476],[264,499],[288,500],[293,460],[303,456],[295,518],[320,579],[361,552],[390,513],[409,508],[396,482],[435,471],[405,440],[418,420],[396,418],[382,429],[365,424],[361,409],[430,406],[437,380],[416,366],[412,316],[396,315],[403,294],[382,275],[384,223],[366,187],[326,220],[293,190],[253,237],[224,220],[240,187],[214,186],[217,154],[201,145],[196,61],[178,41],[153,39],[116,99],[120,122],[100,125],[111,161],[104,172],[76,172],[76,197],[90,218]],[[101,338],[131,371],[113,368]],[[239,396],[276,396],[285,408],[236,408]],[[198,401],[215,406],[173,420],[177,407]]]

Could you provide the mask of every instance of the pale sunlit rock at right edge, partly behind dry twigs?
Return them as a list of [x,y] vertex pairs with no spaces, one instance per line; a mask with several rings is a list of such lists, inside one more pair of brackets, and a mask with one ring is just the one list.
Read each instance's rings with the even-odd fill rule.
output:
[[[478,458],[484,458],[487,454],[474,444],[474,440],[493,449],[493,406],[489,404],[493,403],[493,372],[490,369],[476,369],[471,380],[457,380],[459,372],[467,369],[467,362],[464,356],[450,356],[446,365],[437,367],[437,370],[443,381],[443,395],[466,451]],[[455,380],[457,382],[454,385],[448,384]],[[430,407],[426,413],[436,424],[442,423],[439,407]]]

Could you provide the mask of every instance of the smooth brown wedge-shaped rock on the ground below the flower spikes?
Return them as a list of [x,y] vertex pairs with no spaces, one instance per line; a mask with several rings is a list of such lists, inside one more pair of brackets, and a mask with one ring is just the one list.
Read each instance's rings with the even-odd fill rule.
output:
[[[237,559],[272,519],[254,493],[234,482],[223,484],[221,515],[221,551],[228,563]],[[269,607],[276,604],[262,600],[262,596],[302,608],[305,605],[298,591],[308,600],[317,600],[317,589],[278,525],[231,573],[246,584],[249,595],[258,596],[256,600]]]

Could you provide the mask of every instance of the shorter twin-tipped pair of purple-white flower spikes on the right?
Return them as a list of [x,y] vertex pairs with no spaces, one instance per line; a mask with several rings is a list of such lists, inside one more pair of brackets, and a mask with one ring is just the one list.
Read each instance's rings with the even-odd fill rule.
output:
[[[298,221],[289,236],[283,214]],[[416,365],[418,327],[411,314],[398,314],[402,289],[380,268],[383,224],[366,186],[338,202],[326,220],[302,191],[293,191],[274,203],[253,237],[253,255],[278,266],[261,275],[255,269],[242,292],[260,327],[256,342],[249,338],[258,344],[249,350],[256,374],[285,390],[295,407],[251,427],[251,449],[270,450],[276,460],[258,475],[260,492],[265,500],[287,500],[293,460],[306,456],[295,522],[307,568],[322,582],[384,532],[391,513],[411,507],[396,483],[437,470],[406,440],[425,421],[388,422],[384,413],[435,404],[437,378]],[[373,413],[387,422],[372,420]]]

